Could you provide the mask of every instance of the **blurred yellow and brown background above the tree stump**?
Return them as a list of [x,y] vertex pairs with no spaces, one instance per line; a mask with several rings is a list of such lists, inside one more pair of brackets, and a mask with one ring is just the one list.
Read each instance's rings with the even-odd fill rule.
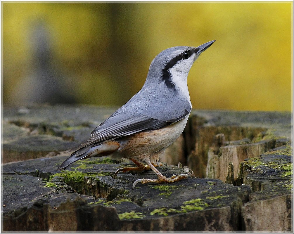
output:
[[192,66],[195,109],[291,109],[292,2],[2,2],[4,104],[123,105],[152,59],[216,42]]

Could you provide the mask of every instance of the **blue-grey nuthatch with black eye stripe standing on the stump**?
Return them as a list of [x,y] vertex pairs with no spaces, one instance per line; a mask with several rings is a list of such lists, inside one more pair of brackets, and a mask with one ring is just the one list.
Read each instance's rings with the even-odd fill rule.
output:
[[71,156],[59,168],[80,159],[111,155],[115,159],[128,158],[137,165],[118,169],[114,178],[120,171],[147,169],[158,176],[138,179],[133,188],[139,182],[173,183],[188,178],[187,174],[167,178],[156,169],[156,162],[186,126],[192,107],[188,73],[196,58],[214,41],[198,47],[176,46],[158,54],[150,64],[142,89],[97,126],[87,141],[72,148]]

